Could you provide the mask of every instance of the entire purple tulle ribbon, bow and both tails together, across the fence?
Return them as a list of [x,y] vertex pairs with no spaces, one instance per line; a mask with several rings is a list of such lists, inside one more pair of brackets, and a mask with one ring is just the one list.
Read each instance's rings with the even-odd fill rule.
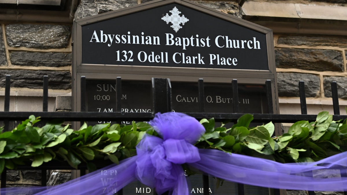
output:
[[[146,135],[137,145],[137,155],[54,187],[5,188],[14,194],[114,194],[136,178],[154,187],[158,194],[188,195],[181,166],[201,170],[211,176],[237,183],[279,189],[347,191],[347,152],[318,162],[278,163],[266,159],[228,154],[213,149],[197,149],[193,144],[205,132],[193,117],[182,113],[156,114],[151,121],[162,138]],[[346,175],[346,174],[343,174]]]

